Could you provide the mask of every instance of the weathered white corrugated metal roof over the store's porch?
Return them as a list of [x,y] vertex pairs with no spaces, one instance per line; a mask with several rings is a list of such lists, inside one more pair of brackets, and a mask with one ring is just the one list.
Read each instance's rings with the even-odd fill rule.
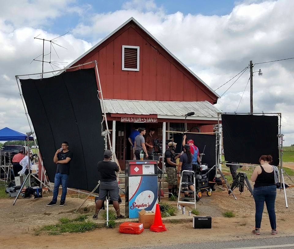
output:
[[185,116],[188,112],[195,112],[192,117],[217,117],[217,113],[220,112],[208,101],[179,102],[104,99],[104,107],[106,113],[156,114],[177,117]]

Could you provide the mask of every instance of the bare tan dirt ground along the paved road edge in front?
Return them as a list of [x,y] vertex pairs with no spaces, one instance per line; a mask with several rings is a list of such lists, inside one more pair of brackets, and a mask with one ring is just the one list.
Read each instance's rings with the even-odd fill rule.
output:
[[[180,224],[164,221],[167,232],[151,232],[145,229],[140,235],[121,234],[118,226],[115,229],[96,229],[85,233],[34,236],[35,228],[45,224],[54,224],[60,217],[76,217],[74,208],[83,200],[67,197],[64,207],[46,207],[49,198],[43,199],[19,199],[12,206],[12,199],[0,201],[1,225],[0,243],[2,248],[126,248],[144,247],[155,245],[170,245],[177,243],[193,243],[197,241],[227,241],[234,239],[256,238],[251,234],[254,227],[254,200],[249,191],[240,194],[234,191],[235,200],[227,191],[215,191],[211,197],[203,196],[197,209],[201,215],[212,216],[212,229],[193,229],[192,218]],[[284,193],[277,192],[277,236],[293,236],[294,223],[294,191],[287,190],[289,208],[285,208]],[[88,202],[88,208],[94,208],[92,202]],[[187,205],[187,210],[193,208]],[[224,218],[221,213],[224,210],[232,210],[236,217]],[[92,212],[90,213],[92,214]],[[91,216],[90,216],[91,217]],[[189,216],[187,216],[189,218]],[[270,235],[269,218],[264,212],[262,220],[262,235]]]

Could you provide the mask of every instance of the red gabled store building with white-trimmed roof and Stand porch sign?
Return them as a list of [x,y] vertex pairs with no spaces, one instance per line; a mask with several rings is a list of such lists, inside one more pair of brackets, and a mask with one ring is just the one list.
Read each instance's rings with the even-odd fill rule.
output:
[[[122,169],[132,158],[128,136],[134,127],[145,127],[147,132],[153,127],[155,138],[163,141],[170,139],[169,131],[213,132],[220,112],[213,104],[220,96],[134,18],[68,67],[94,60],[112,127],[112,147]],[[195,114],[185,120],[188,112]]]

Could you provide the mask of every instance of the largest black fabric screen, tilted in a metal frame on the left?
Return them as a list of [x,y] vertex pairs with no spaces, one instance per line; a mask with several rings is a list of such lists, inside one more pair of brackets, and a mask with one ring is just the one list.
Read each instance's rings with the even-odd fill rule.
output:
[[56,171],[54,154],[67,141],[74,154],[68,187],[92,191],[99,180],[96,163],[104,153],[95,70],[20,81],[49,180]]

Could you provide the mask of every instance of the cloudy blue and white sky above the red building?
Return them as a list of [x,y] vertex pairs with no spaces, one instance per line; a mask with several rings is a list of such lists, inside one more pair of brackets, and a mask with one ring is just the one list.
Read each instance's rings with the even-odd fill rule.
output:
[[[51,60],[70,63],[134,17],[217,89],[245,69],[250,60],[255,64],[294,57],[293,10],[293,0],[1,1],[0,128],[29,131],[14,76],[42,71],[41,62],[31,63],[42,54],[42,41],[34,39],[37,35],[50,40],[69,31],[57,39],[67,49],[55,46],[59,58],[52,53]],[[45,44],[45,53],[49,48]],[[254,73],[253,78],[254,112],[281,112],[284,145],[289,146],[294,143],[294,60],[254,66],[254,71],[259,69],[263,76]],[[50,65],[44,66],[44,71],[51,70]],[[223,95],[230,87],[217,108],[249,112],[248,79],[249,69],[232,87],[234,80],[219,88],[217,93]]]

